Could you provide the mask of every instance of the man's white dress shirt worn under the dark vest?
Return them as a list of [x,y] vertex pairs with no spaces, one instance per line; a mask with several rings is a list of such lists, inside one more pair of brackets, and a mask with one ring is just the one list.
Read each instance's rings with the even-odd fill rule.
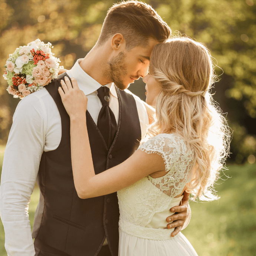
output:
[[[101,85],[82,70],[79,65],[81,60],[67,73],[69,77],[76,78],[79,88],[88,97],[87,109],[97,124],[102,104],[96,90]],[[119,105],[115,86],[113,83],[105,86],[110,89],[109,107],[118,123]],[[149,123],[147,111],[141,99],[132,95],[137,105],[143,137]],[[41,155],[43,151],[55,150],[60,139],[60,114],[49,92],[43,88],[23,98],[13,115],[1,174],[0,215],[9,256],[35,255],[28,203],[36,183]]]

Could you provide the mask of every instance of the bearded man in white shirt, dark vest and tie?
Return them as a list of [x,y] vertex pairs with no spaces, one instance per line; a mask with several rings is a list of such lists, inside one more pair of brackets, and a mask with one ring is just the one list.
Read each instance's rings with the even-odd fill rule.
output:
[[[101,35],[88,55],[20,101],[13,116],[0,186],[9,256],[118,255],[116,193],[78,197],[70,157],[70,121],[58,87],[63,76],[74,77],[88,97],[86,121],[93,165],[96,173],[105,171],[131,156],[145,135],[152,110],[125,89],[147,74],[154,45],[169,36],[167,24],[147,4],[116,4],[109,9]],[[106,93],[103,98],[102,88]],[[109,106],[110,126],[99,114],[105,106]],[[36,180],[40,200],[31,235],[27,204]],[[176,220],[171,225],[177,227],[177,233],[187,218],[187,207],[178,206],[175,211],[180,213],[168,222]]]

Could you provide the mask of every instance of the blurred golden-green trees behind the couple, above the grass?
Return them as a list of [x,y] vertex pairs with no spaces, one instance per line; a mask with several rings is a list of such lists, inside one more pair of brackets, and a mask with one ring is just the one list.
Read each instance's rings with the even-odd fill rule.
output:
[[[255,1],[255,0],[254,0]],[[253,0],[146,0],[173,31],[203,42],[216,59],[214,99],[233,129],[231,158],[242,163],[256,154],[256,3]],[[41,39],[69,69],[98,39],[109,7],[117,1],[0,0],[0,71],[16,47]],[[5,143],[18,99],[0,80],[0,143]],[[145,99],[144,83],[132,92]],[[215,89],[213,89],[215,92]]]

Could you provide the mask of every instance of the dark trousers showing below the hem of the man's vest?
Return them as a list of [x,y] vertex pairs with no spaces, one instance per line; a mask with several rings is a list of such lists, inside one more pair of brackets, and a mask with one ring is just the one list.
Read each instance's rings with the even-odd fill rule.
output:
[[[53,247],[50,247],[42,243],[40,240],[36,238],[35,238],[34,246],[36,251],[35,256],[70,256],[67,253],[61,252]],[[86,252],[85,252],[85,255],[86,255]],[[108,245],[102,246],[97,256],[111,256]]]

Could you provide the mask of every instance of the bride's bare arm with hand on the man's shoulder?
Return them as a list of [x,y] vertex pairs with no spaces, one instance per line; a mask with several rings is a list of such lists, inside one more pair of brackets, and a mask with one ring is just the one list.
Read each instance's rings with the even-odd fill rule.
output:
[[110,194],[134,184],[148,174],[165,170],[164,160],[158,154],[136,151],[123,163],[95,175],[86,127],[87,97],[78,88],[75,79],[62,82],[59,93],[70,116],[71,158],[75,188],[80,198]]

